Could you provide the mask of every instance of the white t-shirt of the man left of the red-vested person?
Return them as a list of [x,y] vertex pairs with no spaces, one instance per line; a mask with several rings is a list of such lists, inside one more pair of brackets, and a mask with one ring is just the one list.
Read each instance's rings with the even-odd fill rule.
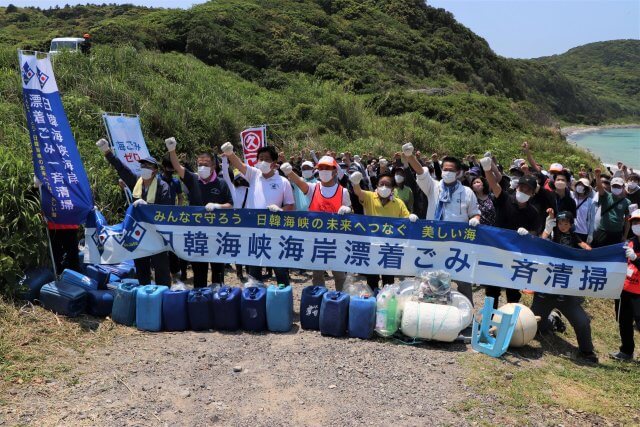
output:
[[291,184],[277,172],[272,177],[265,178],[257,168],[247,166],[245,178],[249,181],[249,195],[245,206],[247,209],[266,209],[269,205],[281,208],[295,204]]

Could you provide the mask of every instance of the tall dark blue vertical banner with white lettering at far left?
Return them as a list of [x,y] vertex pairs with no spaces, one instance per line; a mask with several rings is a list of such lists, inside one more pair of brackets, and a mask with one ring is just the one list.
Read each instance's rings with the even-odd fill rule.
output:
[[93,196],[48,54],[18,51],[24,110],[42,211],[56,224],[83,224]]

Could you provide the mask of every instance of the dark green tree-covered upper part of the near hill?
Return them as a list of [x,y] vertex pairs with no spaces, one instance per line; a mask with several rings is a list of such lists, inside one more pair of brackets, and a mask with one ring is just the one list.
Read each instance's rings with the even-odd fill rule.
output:
[[302,72],[356,93],[445,88],[529,100],[569,122],[637,115],[637,109],[592,93],[545,62],[497,56],[453,15],[421,0],[220,0],[188,10],[129,5],[4,11],[0,43],[21,48],[44,50],[55,36],[89,31],[96,43],[190,53],[267,88]]

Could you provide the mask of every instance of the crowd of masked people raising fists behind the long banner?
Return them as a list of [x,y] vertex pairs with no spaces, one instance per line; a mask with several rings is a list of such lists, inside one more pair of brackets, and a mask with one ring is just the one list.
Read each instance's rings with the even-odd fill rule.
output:
[[[140,160],[136,175],[111,151],[109,143],[96,143],[115,168],[124,186],[133,195],[133,204],[189,204],[218,209],[268,209],[277,211],[351,213],[417,219],[465,222],[535,235],[582,250],[620,242],[628,260],[624,290],[615,302],[622,344],[611,353],[617,360],[631,360],[634,353],[634,322],[640,329],[640,176],[622,163],[612,171],[587,169],[571,171],[560,163],[543,168],[536,162],[527,142],[523,158],[507,165],[490,152],[481,158],[459,159],[422,156],[412,144],[402,145],[390,160],[372,153],[352,155],[313,150],[285,158],[273,146],[258,150],[257,163],[241,160],[231,143],[220,154],[201,152],[195,168],[181,162],[175,138],[165,140],[167,154],[160,165],[153,157]],[[174,176],[177,175],[177,176]],[[193,286],[224,283],[222,263],[190,262]],[[188,263],[173,253],[161,253],[135,260],[141,283],[170,285],[172,275],[186,277]],[[208,281],[209,265],[211,282]],[[267,268],[278,283],[290,283],[289,269]],[[246,266],[247,274],[267,279],[265,269]],[[271,273],[272,272],[272,273]],[[325,273],[313,271],[312,284],[324,285]],[[236,265],[238,278],[243,267]],[[331,272],[336,289],[345,282],[346,272]],[[367,275],[374,290],[393,283],[394,276]],[[483,286],[487,296],[498,300],[502,288],[482,283],[458,282],[458,290],[473,301],[472,286]],[[519,302],[521,292],[506,288],[507,302]],[[542,318],[540,330],[563,330],[562,315],[576,332],[579,356],[597,362],[588,314],[582,298],[535,293],[532,311]],[[468,331],[470,333],[470,331]]]

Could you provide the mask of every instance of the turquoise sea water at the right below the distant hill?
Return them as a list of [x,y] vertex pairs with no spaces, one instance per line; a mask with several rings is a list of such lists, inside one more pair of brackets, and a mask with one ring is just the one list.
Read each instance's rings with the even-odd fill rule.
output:
[[602,129],[569,135],[578,147],[586,148],[607,165],[623,162],[640,170],[640,128]]

